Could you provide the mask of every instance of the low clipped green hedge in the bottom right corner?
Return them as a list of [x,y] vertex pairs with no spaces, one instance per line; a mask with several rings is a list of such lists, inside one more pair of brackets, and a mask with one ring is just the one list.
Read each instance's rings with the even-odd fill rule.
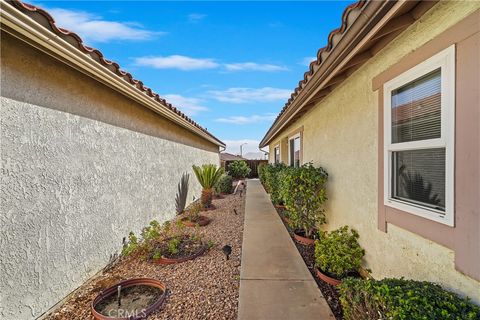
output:
[[480,308],[437,284],[404,279],[345,279],[339,286],[346,320],[474,320]]

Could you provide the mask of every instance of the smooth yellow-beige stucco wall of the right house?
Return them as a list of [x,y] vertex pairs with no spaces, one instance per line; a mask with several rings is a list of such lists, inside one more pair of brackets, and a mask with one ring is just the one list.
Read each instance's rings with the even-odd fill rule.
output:
[[377,229],[378,92],[372,78],[479,8],[473,1],[439,3],[270,144],[272,151],[304,126],[304,162],[329,173],[326,228],[350,225],[359,231],[365,265],[375,278],[438,282],[477,303],[480,283],[455,270],[452,250],[395,225],[388,233]]

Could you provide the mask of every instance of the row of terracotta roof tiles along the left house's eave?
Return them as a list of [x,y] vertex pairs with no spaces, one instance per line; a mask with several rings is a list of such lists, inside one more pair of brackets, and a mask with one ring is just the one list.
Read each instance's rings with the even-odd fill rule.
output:
[[[168,103],[164,98],[160,97],[157,93],[153,92],[152,89],[146,87],[142,81],[133,78],[132,74],[121,70],[120,65],[115,61],[108,60],[104,57],[103,53],[98,49],[92,48],[87,46],[83,43],[82,38],[76,33],[69,31],[67,29],[61,28],[56,25],[55,20],[53,17],[42,8],[37,6],[19,1],[19,0],[7,0],[8,3],[12,4],[16,9],[25,13],[33,20],[37,21],[38,23],[42,24],[44,27],[48,28],[50,31],[54,32],[55,34],[59,35],[63,40],[70,43],[72,46],[80,50],[81,52],[88,54],[92,59],[99,62],[102,66],[106,67],[120,78],[123,78],[126,82],[130,83],[131,85],[135,86],[141,92],[147,94],[149,97],[153,98],[155,101],[162,104],[164,107],[168,108],[169,110],[173,111],[177,116],[185,119],[195,127],[199,128],[210,137],[214,138],[220,144],[224,145],[222,141],[208,132],[205,128],[200,126],[198,123],[193,121],[191,118],[187,117],[183,112],[178,110],[174,107],[171,103]],[[39,20],[40,18],[40,20]],[[43,21],[41,20],[43,18]]]

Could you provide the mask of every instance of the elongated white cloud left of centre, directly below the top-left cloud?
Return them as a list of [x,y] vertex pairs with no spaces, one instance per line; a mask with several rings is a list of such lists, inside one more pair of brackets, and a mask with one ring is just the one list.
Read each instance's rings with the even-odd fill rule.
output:
[[135,58],[139,66],[148,66],[156,69],[179,69],[183,71],[214,69],[219,66],[213,59],[198,59],[181,55],[151,56]]

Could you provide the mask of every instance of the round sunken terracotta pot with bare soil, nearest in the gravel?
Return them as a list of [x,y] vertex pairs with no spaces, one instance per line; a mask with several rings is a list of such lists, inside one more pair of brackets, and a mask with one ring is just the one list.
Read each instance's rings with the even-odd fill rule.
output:
[[[135,307],[135,310],[128,310],[127,306],[125,306],[125,309],[122,309],[122,306],[117,307],[116,304],[116,298],[117,298],[117,288],[118,286],[122,286],[122,292],[128,291],[128,288],[130,290],[134,290],[135,287],[141,288],[141,287],[150,287],[152,289],[152,292],[155,292],[155,289],[159,291],[159,295],[155,298],[153,302],[150,302],[149,305],[141,306],[139,305],[138,307]],[[114,286],[109,287],[106,290],[103,290],[100,292],[100,294],[92,301],[92,304],[90,305],[90,309],[92,311],[92,315],[95,319],[98,320],[137,320],[137,319],[145,319],[149,314],[155,312],[157,309],[159,309],[163,302],[165,301],[166,297],[166,291],[167,288],[165,284],[161,281],[155,280],[155,279],[150,279],[150,278],[137,278],[137,279],[130,279],[130,280],[125,280],[122,282],[117,283]],[[124,301],[124,304],[128,303],[140,303],[138,302],[138,297],[135,295],[135,298],[128,298],[128,293],[124,293],[125,296],[122,298]],[[108,314],[102,314],[100,313],[99,307],[102,307],[102,302],[106,302],[109,300],[114,301],[115,307],[114,309],[117,309],[117,311],[113,312],[110,310],[110,315]],[[127,300],[127,301],[125,301]],[[141,300],[140,300],[141,301]],[[109,305],[112,305],[110,302]],[[108,305],[105,307],[107,308]]]

